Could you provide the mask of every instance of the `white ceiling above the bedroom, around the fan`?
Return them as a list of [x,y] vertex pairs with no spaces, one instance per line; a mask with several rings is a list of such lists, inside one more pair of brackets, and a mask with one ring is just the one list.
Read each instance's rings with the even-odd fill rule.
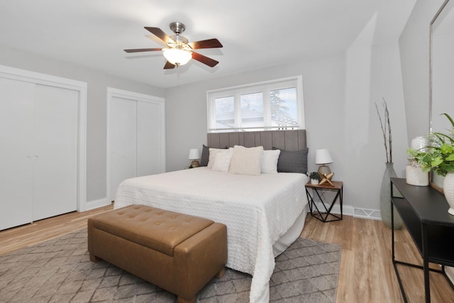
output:
[[[375,13],[376,38],[397,38],[415,1],[1,0],[0,45],[165,88],[341,52]],[[162,52],[123,51],[162,47],[143,27],[172,21],[189,42],[218,38],[198,53],[220,63],[163,70]]]

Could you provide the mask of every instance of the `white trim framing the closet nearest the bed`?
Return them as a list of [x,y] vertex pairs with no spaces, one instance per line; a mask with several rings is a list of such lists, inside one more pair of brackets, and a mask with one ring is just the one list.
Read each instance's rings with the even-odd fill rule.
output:
[[135,101],[150,102],[154,104],[160,104],[161,117],[162,117],[162,133],[161,133],[161,159],[160,159],[160,171],[165,172],[165,99],[161,97],[155,97],[148,94],[140,94],[138,92],[129,92],[123,89],[116,89],[113,87],[107,87],[107,138],[106,138],[106,201],[111,202],[115,197],[110,197],[111,193],[111,148],[110,148],[110,116],[111,116],[111,101],[112,97],[133,99]]

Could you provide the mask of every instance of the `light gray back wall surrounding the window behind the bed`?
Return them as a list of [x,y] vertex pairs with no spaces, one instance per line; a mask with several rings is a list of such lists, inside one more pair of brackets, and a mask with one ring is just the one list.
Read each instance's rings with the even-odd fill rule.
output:
[[[344,53],[166,89],[167,171],[189,165],[189,148],[201,149],[206,144],[207,90],[302,75],[309,171],[317,168],[315,150],[328,148],[334,160],[330,165],[334,179],[344,182],[344,204],[380,209],[386,160],[375,102],[380,104],[385,97],[391,111],[399,177],[404,177],[406,165],[406,119],[397,40],[385,45],[370,43],[369,52],[366,67]],[[347,66],[366,72],[347,75]],[[352,103],[352,96],[362,89],[362,77],[370,79],[370,87]]]

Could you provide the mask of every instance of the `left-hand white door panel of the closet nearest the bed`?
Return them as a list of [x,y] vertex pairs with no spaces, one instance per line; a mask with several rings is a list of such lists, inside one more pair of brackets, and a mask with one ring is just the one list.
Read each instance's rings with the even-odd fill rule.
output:
[[112,97],[109,104],[110,197],[118,185],[137,175],[137,101]]

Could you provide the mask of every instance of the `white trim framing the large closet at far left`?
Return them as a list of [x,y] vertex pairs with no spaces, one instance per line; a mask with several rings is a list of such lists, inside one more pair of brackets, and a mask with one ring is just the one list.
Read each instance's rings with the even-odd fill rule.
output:
[[20,70],[0,65],[0,77],[52,87],[72,89],[79,92],[77,134],[77,211],[84,211],[87,202],[87,82],[80,82],[52,75]]

